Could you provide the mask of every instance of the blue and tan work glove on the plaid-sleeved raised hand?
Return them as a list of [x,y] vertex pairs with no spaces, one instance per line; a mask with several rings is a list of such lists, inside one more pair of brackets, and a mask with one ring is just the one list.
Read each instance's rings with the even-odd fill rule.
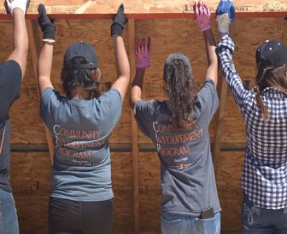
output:
[[229,25],[235,19],[235,6],[231,0],[221,0],[216,9],[219,33],[229,33]]

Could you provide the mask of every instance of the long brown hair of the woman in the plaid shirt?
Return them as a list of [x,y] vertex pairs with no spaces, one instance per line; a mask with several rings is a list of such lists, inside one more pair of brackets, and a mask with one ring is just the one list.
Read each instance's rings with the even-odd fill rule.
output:
[[264,121],[268,118],[268,110],[264,105],[260,93],[263,89],[271,87],[287,94],[287,63],[277,68],[270,67],[265,60],[260,60],[256,75],[256,101],[258,102]]

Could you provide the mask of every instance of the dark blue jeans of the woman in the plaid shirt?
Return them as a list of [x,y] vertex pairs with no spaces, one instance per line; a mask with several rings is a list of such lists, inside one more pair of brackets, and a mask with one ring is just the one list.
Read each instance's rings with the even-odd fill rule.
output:
[[260,208],[244,195],[242,209],[243,234],[287,234],[287,208]]

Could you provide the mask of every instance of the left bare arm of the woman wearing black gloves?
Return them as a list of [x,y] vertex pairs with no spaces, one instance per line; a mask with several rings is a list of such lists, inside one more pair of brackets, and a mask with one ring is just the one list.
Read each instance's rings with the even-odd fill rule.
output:
[[37,69],[37,79],[41,94],[48,87],[51,87],[53,89],[53,85],[51,82],[53,49],[53,44],[44,43],[40,53]]

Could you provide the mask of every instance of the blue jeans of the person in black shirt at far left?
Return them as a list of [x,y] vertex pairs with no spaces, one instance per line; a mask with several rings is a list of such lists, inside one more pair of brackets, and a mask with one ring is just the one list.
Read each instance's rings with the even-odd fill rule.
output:
[[0,234],[19,234],[14,198],[3,189],[0,189]]

